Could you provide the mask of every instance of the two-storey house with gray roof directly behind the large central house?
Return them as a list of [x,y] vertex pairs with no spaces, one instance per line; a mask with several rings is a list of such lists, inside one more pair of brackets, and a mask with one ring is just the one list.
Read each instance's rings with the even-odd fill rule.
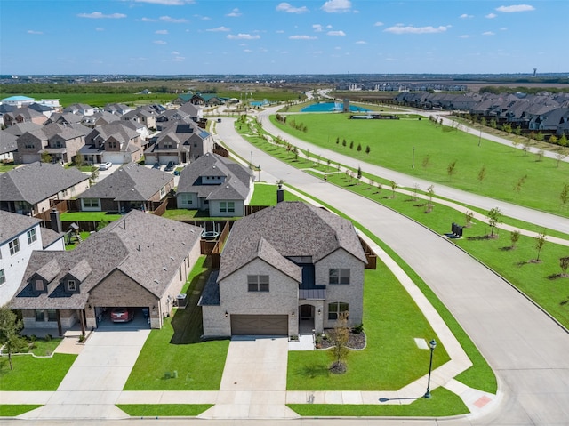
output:
[[252,197],[253,174],[234,161],[207,153],[184,167],[176,191],[179,209],[206,210],[212,217],[244,216]]

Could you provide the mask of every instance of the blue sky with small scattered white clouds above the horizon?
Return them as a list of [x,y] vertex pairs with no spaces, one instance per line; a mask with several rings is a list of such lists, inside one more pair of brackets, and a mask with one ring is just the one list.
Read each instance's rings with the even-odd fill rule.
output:
[[0,0],[0,74],[569,72],[568,0]]

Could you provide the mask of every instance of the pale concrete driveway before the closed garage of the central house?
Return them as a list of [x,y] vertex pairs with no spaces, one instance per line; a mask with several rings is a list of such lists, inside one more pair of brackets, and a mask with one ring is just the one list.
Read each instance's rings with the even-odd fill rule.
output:
[[298,417],[286,404],[286,337],[240,336],[229,343],[220,391],[204,419]]

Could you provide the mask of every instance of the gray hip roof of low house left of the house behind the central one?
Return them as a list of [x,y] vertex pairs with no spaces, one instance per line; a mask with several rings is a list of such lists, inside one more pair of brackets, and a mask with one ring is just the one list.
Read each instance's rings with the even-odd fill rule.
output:
[[109,174],[77,198],[146,201],[173,179],[170,173],[130,163]]

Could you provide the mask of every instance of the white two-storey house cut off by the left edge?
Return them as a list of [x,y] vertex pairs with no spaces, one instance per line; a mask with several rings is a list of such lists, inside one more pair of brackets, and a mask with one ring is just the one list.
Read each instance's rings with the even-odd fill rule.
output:
[[63,234],[41,228],[41,222],[0,210],[0,306],[18,290],[33,251],[65,250]]

